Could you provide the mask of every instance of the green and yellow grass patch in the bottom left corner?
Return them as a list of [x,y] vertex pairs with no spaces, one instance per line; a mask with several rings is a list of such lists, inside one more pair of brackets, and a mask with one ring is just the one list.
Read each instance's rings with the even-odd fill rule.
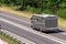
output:
[[20,44],[19,41],[13,40],[11,36],[7,35],[3,32],[0,32],[0,38],[8,42],[8,44]]

